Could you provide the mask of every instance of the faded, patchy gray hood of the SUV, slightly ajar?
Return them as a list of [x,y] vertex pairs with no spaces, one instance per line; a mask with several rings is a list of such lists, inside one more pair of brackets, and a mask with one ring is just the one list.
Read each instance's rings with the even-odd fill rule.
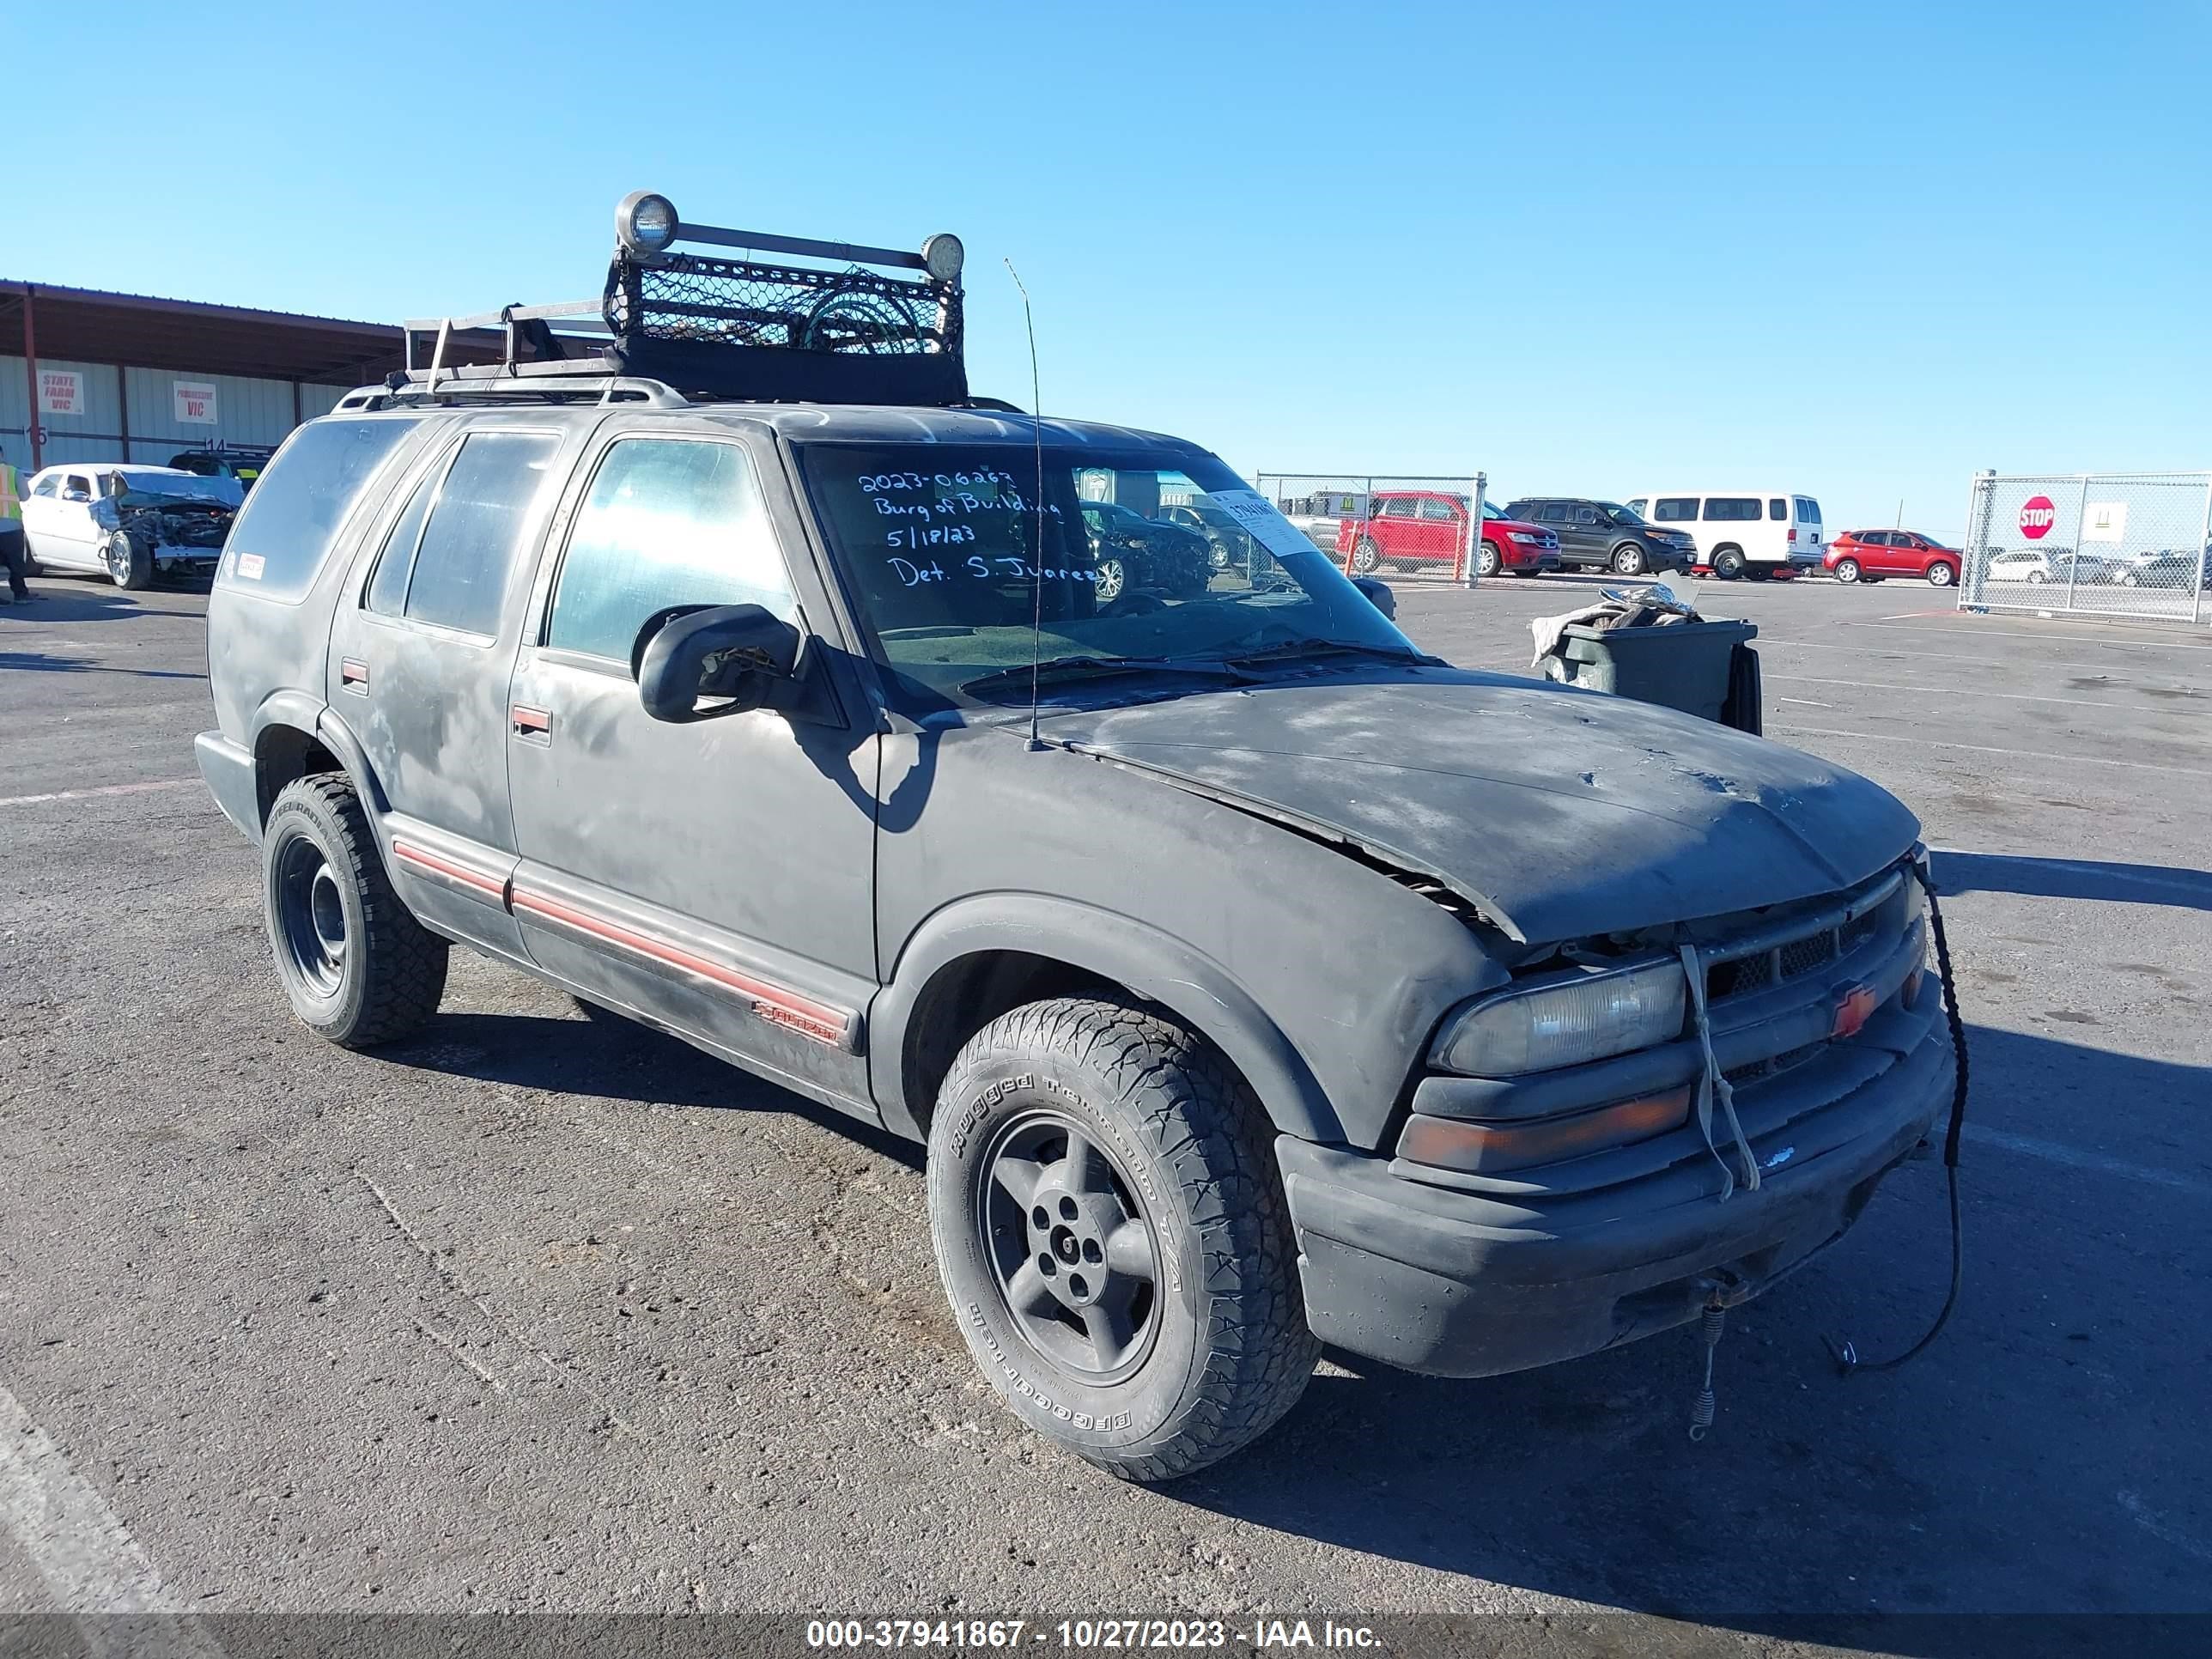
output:
[[1920,834],[1887,790],[1801,750],[1453,668],[1048,712],[1044,728],[1431,876],[1526,942],[1832,894]]

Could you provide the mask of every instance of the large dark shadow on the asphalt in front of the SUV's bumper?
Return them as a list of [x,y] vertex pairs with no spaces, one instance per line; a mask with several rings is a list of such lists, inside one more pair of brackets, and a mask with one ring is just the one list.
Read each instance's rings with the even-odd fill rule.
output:
[[[1982,1119],[2017,1121],[2039,1086],[2163,1102],[2143,1139],[2212,1172],[2181,1108],[2212,1099],[2203,1066],[1989,1029],[1971,1055]],[[2212,1179],[2168,1190],[1969,1144],[1962,1181],[1964,1296],[1896,1374],[1840,1376],[1823,1338],[1882,1358],[1927,1329],[1947,1272],[1936,1161],[1893,1172],[1849,1237],[1730,1316],[1701,1444],[1694,1327],[1480,1380],[1332,1354],[1274,1433],[1164,1493],[1389,1562],[1878,1652],[2039,1650],[1938,1613],[2203,1610],[2201,1542],[2163,1517],[2197,1509],[2212,1431],[2159,1400],[2201,1360],[2181,1252]],[[2174,1230],[2177,1254],[2139,1259],[2115,1214],[2135,1239]]]

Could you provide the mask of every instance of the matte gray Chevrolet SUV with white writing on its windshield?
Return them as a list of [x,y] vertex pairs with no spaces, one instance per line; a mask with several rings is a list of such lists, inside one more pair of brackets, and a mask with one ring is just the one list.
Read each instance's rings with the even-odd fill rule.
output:
[[[294,1013],[405,1037],[465,945],[925,1141],[951,1316],[1079,1455],[1228,1455],[1321,1343],[1694,1321],[1949,1097],[1874,783],[1422,655],[1190,442],[679,392],[635,332],[531,378],[500,316],[504,365],[301,427],[223,551],[197,754]],[[1104,599],[1084,502],[1263,555]]]

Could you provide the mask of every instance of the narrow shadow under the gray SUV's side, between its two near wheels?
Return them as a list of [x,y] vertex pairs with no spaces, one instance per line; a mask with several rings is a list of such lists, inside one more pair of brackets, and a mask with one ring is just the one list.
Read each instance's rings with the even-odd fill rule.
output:
[[858,1139],[907,1168],[922,1148],[865,1119],[779,1088],[650,1026],[619,1018],[560,1020],[542,1013],[440,1013],[378,1060],[449,1077],[544,1088],[635,1106],[708,1106],[792,1113]]

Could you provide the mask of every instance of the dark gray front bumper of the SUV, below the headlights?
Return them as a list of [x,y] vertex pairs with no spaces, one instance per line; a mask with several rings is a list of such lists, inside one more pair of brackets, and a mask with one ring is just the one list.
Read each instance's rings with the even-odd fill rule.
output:
[[[1482,1190],[1285,1135],[1307,1321],[1327,1343],[1436,1376],[1524,1371],[1683,1325],[1717,1290],[1754,1296],[1843,1237],[1927,1137],[1951,1077],[1942,991],[1924,975],[1854,1042],[1739,1086],[1761,1186],[1725,1201],[1694,1130],[1464,1181]],[[1626,1179],[1593,1186],[1606,1159]]]

